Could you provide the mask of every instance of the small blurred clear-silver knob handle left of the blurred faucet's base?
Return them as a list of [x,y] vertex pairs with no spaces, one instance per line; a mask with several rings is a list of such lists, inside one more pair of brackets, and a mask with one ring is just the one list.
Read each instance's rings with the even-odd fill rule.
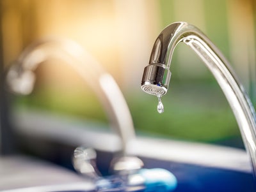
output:
[[92,148],[77,147],[73,155],[73,166],[77,172],[91,179],[100,177],[100,172],[96,165],[96,151]]

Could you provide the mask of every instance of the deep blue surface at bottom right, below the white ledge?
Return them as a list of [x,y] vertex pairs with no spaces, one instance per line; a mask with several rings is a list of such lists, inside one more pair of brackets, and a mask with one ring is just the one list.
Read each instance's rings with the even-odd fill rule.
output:
[[174,191],[186,192],[252,192],[256,191],[253,175],[221,168],[187,165],[156,159],[141,158],[147,168],[160,167],[172,172],[177,178]]

